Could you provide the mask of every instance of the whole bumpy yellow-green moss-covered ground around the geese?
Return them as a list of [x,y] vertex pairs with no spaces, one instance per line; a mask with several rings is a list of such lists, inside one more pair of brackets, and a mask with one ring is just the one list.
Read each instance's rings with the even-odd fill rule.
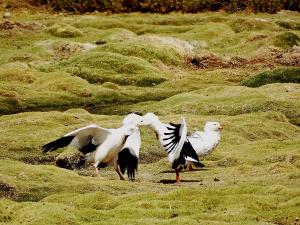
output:
[[[1,11],[2,13],[2,11]],[[0,224],[300,224],[297,12],[0,19]],[[182,183],[141,128],[137,180],[55,166],[41,145],[130,111],[224,127]]]

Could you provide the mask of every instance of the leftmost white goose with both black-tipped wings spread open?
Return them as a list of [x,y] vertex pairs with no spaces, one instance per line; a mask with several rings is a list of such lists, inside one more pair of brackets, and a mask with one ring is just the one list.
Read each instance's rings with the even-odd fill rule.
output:
[[42,149],[46,153],[66,146],[74,147],[85,154],[84,162],[94,163],[96,174],[99,174],[99,168],[113,165],[121,180],[124,177],[120,169],[123,174],[127,169],[129,179],[134,180],[141,145],[138,125],[143,125],[143,117],[131,113],[120,128],[106,129],[91,124],[45,144]]

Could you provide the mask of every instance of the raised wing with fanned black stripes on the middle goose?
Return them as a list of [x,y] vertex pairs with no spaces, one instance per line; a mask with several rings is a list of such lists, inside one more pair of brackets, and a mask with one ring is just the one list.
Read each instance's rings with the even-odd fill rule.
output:
[[173,163],[180,156],[187,136],[187,126],[183,117],[179,124],[170,123],[165,126],[166,129],[161,139],[161,144],[168,153],[169,161]]

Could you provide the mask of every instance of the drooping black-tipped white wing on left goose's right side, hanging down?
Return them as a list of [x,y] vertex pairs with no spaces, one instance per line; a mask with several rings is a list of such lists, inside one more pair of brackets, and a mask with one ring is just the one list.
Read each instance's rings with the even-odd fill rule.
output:
[[127,170],[129,180],[135,180],[135,172],[138,167],[138,159],[141,148],[141,134],[136,130],[127,137],[122,150],[118,154],[118,165],[122,174]]

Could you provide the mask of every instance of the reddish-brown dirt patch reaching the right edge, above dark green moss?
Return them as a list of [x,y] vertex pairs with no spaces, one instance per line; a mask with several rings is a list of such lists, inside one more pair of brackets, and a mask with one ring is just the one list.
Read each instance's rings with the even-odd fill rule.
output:
[[300,66],[300,47],[290,49],[264,48],[251,58],[234,56],[222,58],[212,53],[203,53],[186,57],[186,63],[193,69],[217,68],[273,68],[276,65]]

